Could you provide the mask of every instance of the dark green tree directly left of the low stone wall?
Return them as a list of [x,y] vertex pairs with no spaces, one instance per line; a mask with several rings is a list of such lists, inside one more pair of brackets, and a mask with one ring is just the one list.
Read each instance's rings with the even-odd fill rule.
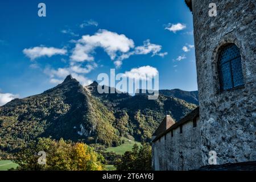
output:
[[118,159],[115,167],[118,171],[147,171],[151,170],[151,146],[150,144],[134,144],[132,151],[126,151],[121,159]]

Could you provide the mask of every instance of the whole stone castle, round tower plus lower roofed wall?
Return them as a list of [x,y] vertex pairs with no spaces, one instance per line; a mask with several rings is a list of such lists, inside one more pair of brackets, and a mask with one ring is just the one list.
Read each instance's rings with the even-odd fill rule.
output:
[[[193,14],[199,107],[152,138],[155,170],[256,160],[256,1],[185,0]],[[212,4],[216,14],[210,15]]]

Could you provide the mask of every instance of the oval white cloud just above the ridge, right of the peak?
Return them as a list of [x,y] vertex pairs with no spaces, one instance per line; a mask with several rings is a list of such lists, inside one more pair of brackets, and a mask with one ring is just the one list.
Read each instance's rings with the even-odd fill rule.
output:
[[123,73],[123,76],[128,78],[134,78],[136,80],[148,80],[158,74],[158,70],[149,65],[139,68],[133,68],[130,71]]

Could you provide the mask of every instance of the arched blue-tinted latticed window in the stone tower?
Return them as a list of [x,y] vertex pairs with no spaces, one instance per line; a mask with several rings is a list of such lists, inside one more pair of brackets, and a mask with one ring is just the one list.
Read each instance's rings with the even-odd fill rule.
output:
[[222,47],[218,57],[220,90],[244,85],[240,50],[235,44]]

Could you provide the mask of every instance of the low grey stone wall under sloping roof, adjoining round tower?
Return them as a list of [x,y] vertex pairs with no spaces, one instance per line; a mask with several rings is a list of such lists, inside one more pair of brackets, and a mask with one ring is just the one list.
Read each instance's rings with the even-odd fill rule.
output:
[[171,131],[152,143],[152,164],[158,170],[189,170],[201,167],[201,137],[200,122],[197,118],[197,126],[189,121]]

